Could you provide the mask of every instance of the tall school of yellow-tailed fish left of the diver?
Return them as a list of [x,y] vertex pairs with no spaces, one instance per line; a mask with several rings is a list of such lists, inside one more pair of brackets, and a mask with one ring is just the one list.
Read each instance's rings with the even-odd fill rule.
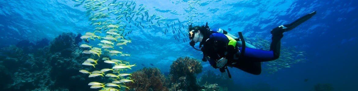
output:
[[[114,57],[112,58],[112,56],[130,57],[130,54],[120,50],[132,42],[128,35],[139,28],[163,25],[164,21],[162,20],[165,19],[163,16],[156,16],[156,14],[150,15],[148,13],[149,9],[145,10],[146,6],[136,5],[134,1],[72,1],[78,3],[74,7],[83,6],[87,10],[86,16],[88,16],[88,21],[91,22],[90,25],[93,26],[93,32],[86,32],[81,36],[81,39],[87,43],[81,44],[79,47],[87,48],[88,50],[84,50],[82,53],[93,54],[94,58],[84,60],[82,65],[93,67],[93,69],[102,61],[112,65],[112,67],[101,70],[89,71],[81,69],[79,72],[88,74],[88,77],[106,77],[110,80],[110,82],[90,82],[88,85],[91,89],[100,89],[99,91],[130,89],[125,84],[135,81],[130,78],[131,74],[125,72],[136,65],[130,65],[129,61],[113,59]],[[139,8],[136,9],[137,6]],[[157,22],[153,23],[153,21]],[[136,26],[136,28],[132,28],[132,25]],[[91,43],[96,41],[98,44],[91,45],[90,41]]]

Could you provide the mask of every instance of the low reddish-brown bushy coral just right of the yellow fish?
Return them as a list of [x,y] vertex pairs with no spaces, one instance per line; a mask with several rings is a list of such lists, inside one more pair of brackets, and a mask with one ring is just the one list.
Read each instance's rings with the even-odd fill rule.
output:
[[135,83],[126,84],[130,91],[168,91],[166,78],[158,68],[143,68],[132,73]]

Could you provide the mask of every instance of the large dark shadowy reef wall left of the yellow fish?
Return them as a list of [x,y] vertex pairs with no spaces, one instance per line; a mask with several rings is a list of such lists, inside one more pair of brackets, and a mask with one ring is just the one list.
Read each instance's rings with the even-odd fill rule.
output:
[[1,91],[88,91],[88,77],[78,72],[92,55],[78,45],[81,34],[63,33],[50,42],[28,40],[1,48]]

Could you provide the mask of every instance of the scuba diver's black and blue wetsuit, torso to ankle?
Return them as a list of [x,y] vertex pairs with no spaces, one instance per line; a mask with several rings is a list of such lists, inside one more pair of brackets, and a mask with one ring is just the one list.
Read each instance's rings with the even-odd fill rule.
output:
[[[241,47],[228,45],[229,39],[222,33],[213,32],[209,37],[204,37],[202,43],[200,43],[203,45],[200,49],[203,51],[204,57],[210,57],[209,63],[213,68],[218,68],[216,66],[217,60],[224,57],[228,60],[227,64],[231,65],[236,62],[236,64],[232,64],[233,67],[259,75],[261,74],[261,62],[280,57],[281,38],[284,31],[279,27],[272,31],[274,32],[269,51],[246,47],[245,54],[241,55],[238,60],[234,60],[233,56],[240,52]],[[220,69],[223,70],[223,68]]]

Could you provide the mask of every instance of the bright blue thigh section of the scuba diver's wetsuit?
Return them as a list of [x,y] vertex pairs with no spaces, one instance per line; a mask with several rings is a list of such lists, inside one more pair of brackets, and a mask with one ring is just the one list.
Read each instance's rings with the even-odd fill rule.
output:
[[254,61],[254,62],[275,60],[274,51],[272,50],[267,51],[267,50],[248,48],[248,47],[245,48],[245,54],[243,54],[243,57],[247,61]]

